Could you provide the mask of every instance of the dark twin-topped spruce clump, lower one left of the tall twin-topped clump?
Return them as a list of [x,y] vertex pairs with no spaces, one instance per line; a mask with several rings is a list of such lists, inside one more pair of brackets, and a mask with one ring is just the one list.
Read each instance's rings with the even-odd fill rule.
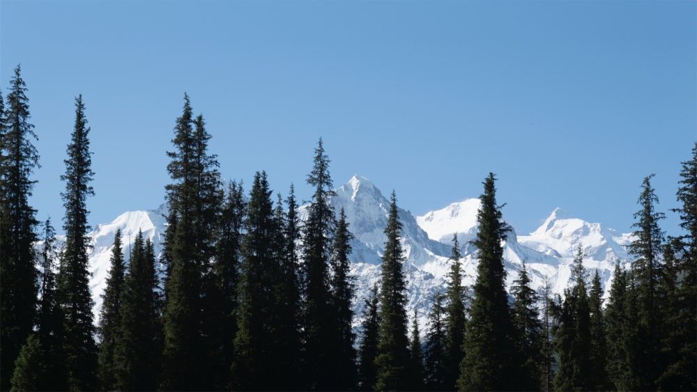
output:
[[121,325],[114,350],[116,389],[120,391],[153,391],[157,386],[160,325],[155,262],[152,242],[144,243],[139,231],[123,281]]

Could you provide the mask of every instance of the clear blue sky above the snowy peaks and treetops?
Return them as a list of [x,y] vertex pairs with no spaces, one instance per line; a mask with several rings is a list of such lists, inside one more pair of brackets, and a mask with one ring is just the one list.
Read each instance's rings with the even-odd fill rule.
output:
[[358,173],[413,214],[493,171],[523,232],[555,207],[627,231],[645,175],[676,206],[697,139],[696,4],[3,0],[0,86],[22,63],[39,219],[63,217],[76,95],[99,224],[162,203],[186,91],[226,178],[266,170],[307,199],[323,136],[335,185]]

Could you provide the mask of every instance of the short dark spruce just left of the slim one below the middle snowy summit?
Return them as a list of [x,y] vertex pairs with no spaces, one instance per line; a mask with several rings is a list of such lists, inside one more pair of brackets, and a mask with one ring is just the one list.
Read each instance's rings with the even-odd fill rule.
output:
[[434,295],[434,303],[429,313],[429,329],[426,332],[425,375],[427,391],[447,391],[447,356],[445,345],[447,334],[445,333],[445,309],[443,301],[445,296],[441,292]]

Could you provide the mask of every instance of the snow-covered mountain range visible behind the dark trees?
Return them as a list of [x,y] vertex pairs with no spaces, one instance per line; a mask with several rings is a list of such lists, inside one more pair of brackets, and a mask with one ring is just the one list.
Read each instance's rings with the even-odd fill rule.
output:
[[[338,213],[344,208],[350,224],[349,230],[355,235],[353,242],[353,274],[355,276],[356,298],[354,309],[360,316],[364,299],[370,288],[380,279],[380,263],[385,243],[390,201],[375,185],[360,175],[337,189],[337,196],[330,201]],[[466,274],[464,283],[471,285],[477,273],[477,249],[469,244],[477,235],[477,211],[480,201],[470,198],[452,203],[443,210],[432,211],[422,217],[415,217],[408,210],[399,209],[399,219],[403,224],[401,243],[405,249],[404,268],[408,278],[409,314],[418,309],[420,323],[425,324],[433,295],[445,290],[445,275],[450,269],[449,256],[452,249],[452,236],[458,233]],[[109,224],[98,225],[91,233],[93,249],[90,256],[92,279],[90,288],[95,300],[95,315],[102,305],[100,295],[105,288],[109,256],[114,233],[121,228],[123,249],[128,262],[128,249],[135,240],[138,230],[155,244],[155,251],[162,251],[165,221],[164,205],[158,210],[125,212]],[[300,207],[300,218],[304,219],[306,207]],[[512,225],[511,225],[512,226]],[[518,235],[510,230],[503,242],[507,284],[518,276],[523,260],[527,263],[533,279],[533,287],[540,288],[544,279],[549,280],[553,292],[562,293],[569,282],[569,265],[579,244],[583,246],[583,264],[590,272],[599,271],[604,288],[609,288],[615,260],[627,260],[625,246],[630,236],[606,228],[602,224],[591,224],[576,219],[557,208],[544,224],[530,235]],[[61,243],[59,238],[58,245]],[[358,318],[356,324],[358,324]],[[424,330],[424,328],[422,328]]]

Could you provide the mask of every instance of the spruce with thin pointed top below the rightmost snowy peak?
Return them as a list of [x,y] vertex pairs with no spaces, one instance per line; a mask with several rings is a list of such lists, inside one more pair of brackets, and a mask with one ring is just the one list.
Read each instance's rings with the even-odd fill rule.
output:
[[564,291],[559,324],[555,328],[555,346],[559,368],[554,377],[558,391],[590,390],[590,305],[583,267],[583,249],[579,245],[571,267],[571,288]]

